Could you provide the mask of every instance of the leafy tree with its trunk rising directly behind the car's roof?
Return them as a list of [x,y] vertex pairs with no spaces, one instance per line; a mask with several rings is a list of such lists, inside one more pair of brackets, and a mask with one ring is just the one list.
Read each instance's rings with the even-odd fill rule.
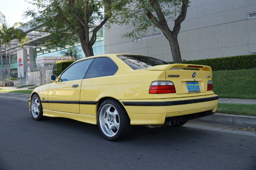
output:
[[[78,39],[86,57],[93,56],[96,32],[111,17],[115,0],[32,0],[37,10],[28,10],[32,26],[50,33],[47,41],[72,45]],[[91,32],[91,36],[90,36]]]

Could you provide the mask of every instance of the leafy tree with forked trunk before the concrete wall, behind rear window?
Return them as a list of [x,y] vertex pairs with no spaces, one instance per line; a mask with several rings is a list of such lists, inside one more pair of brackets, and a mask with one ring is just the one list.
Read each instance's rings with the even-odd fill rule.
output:
[[[159,28],[169,41],[174,63],[182,63],[177,35],[186,18],[189,0],[123,0],[126,6],[113,15],[111,23],[132,26],[125,37],[137,37]],[[169,21],[174,21],[171,30]]]

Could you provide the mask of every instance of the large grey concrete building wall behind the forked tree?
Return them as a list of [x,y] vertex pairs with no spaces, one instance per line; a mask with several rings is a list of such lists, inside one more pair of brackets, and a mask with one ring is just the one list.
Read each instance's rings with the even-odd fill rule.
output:
[[[256,18],[247,19],[248,13],[256,11],[256,0],[193,0],[189,5],[178,34],[182,59],[229,57],[256,51]],[[172,29],[174,22],[168,23]],[[144,54],[172,61],[164,36],[134,42],[122,38],[128,31],[127,26],[118,25],[106,29],[107,54]]]

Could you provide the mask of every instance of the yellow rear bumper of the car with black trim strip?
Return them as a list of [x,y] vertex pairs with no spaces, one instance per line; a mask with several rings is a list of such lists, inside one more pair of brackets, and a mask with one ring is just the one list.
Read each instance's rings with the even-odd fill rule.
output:
[[169,99],[120,100],[120,102],[131,119],[131,125],[162,125],[168,117],[173,119],[177,116],[176,119],[183,120],[186,117],[186,120],[189,120],[215,113],[218,96],[212,94]]

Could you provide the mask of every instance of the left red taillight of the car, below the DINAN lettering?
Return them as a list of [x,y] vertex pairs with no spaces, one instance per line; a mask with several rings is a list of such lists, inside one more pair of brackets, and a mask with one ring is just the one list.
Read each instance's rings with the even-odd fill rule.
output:
[[149,94],[176,93],[173,82],[157,81],[152,82],[149,88]]

